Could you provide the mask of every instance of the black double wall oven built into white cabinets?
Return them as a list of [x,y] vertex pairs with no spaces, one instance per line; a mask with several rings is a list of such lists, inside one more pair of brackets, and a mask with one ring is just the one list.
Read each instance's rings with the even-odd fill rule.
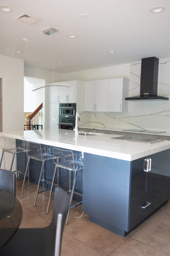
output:
[[76,103],[59,103],[59,129],[73,130],[76,122]]

